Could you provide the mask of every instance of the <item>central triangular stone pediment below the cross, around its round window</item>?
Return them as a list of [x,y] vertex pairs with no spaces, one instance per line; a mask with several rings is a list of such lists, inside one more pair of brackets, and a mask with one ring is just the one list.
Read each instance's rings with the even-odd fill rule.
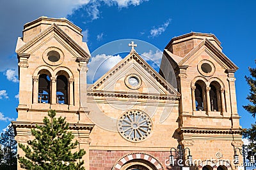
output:
[[[125,78],[132,74],[138,76],[144,83],[143,87],[134,91],[129,89],[129,85],[125,85]],[[129,53],[129,55],[109,70],[108,73],[95,81],[90,87],[90,90],[128,93],[136,92],[137,94],[145,95],[159,94],[176,97],[180,96],[179,92],[177,92],[170,83],[164,80],[164,78],[136,52]]]

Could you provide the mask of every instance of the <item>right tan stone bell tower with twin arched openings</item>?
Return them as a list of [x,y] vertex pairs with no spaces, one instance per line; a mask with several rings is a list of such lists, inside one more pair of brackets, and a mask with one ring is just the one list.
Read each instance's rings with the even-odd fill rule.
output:
[[217,153],[233,160],[234,148],[243,144],[234,78],[238,67],[222,52],[214,34],[191,32],[172,38],[164,55],[160,74],[168,76],[170,63],[181,94],[180,143],[191,152],[201,150],[194,155],[202,160]]

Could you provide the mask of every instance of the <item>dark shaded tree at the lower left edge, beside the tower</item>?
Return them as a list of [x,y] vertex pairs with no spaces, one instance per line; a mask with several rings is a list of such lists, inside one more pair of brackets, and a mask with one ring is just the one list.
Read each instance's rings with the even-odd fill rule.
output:
[[2,169],[17,169],[17,141],[15,141],[14,137],[15,132],[12,125],[9,125],[6,132],[1,134]]

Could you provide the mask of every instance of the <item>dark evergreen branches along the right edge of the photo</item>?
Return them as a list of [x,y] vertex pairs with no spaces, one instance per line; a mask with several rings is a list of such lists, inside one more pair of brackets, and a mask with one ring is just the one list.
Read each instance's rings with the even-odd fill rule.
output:
[[[256,69],[249,67],[250,75],[245,76],[245,79],[250,87],[250,94],[246,97],[250,104],[243,106],[246,111],[252,114],[255,118],[256,115]],[[252,124],[251,128],[243,131],[243,136],[248,139],[249,144],[247,146],[250,152],[256,153],[256,124]]]

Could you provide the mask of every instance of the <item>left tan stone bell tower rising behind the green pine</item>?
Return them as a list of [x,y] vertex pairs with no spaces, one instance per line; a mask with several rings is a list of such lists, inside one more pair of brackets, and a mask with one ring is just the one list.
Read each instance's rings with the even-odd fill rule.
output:
[[[13,126],[18,143],[32,139],[31,128],[42,124],[48,110],[56,110],[57,116],[66,117],[80,147],[88,150],[93,124],[85,124],[83,117],[90,52],[82,38],[81,29],[65,18],[40,17],[24,25],[16,47],[20,88]],[[24,155],[20,148],[18,153]]]

